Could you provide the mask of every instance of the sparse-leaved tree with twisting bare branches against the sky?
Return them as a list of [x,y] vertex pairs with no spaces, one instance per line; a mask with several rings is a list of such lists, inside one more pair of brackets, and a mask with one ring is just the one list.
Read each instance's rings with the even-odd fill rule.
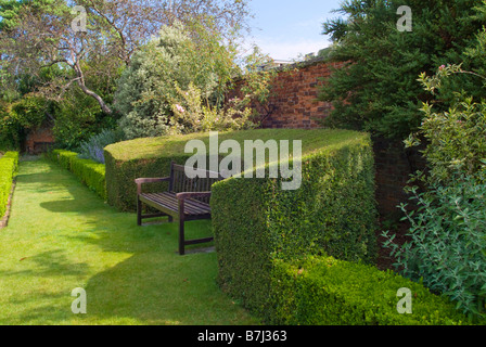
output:
[[[61,100],[77,86],[106,114],[112,114],[112,108],[100,91],[90,86],[91,77],[103,76],[107,83],[116,80],[136,50],[162,25],[177,18],[196,20],[223,33],[229,40],[244,27],[248,16],[245,0],[24,0],[18,7],[13,1],[5,3],[15,11],[10,13],[8,30],[0,33],[2,61],[8,62],[2,63],[2,68],[10,68],[12,76],[20,72],[39,75],[57,65],[64,74],[37,92]],[[73,13],[74,9],[86,10],[86,26],[84,12]],[[77,26],[79,30],[73,30],[73,23],[81,24]]]

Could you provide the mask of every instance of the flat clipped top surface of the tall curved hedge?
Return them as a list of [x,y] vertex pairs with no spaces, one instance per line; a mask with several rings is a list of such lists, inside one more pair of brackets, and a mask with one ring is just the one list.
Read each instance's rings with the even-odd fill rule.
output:
[[[219,132],[218,136],[219,143],[225,140],[236,140],[241,144],[243,144],[245,140],[302,140],[303,156],[324,147],[341,147],[342,145],[355,141],[362,141],[368,137],[367,133],[362,132],[334,129],[256,129]],[[115,160],[122,162],[170,157],[183,154],[186,144],[190,140],[202,140],[207,145],[209,143],[209,133],[136,139],[111,144],[105,147],[105,151],[108,152]]]

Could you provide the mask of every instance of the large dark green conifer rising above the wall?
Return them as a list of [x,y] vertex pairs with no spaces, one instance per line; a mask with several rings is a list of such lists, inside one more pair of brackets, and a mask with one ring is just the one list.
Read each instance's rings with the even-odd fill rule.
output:
[[[411,10],[411,31],[398,30],[402,14],[397,10],[402,5]],[[478,78],[457,75],[435,99],[418,81],[421,73],[433,75],[445,64],[462,63],[464,69],[484,72],[479,37],[486,23],[485,2],[347,0],[336,12],[344,20],[323,24],[323,34],[334,43],[328,53],[348,64],[328,79],[320,94],[334,105],[324,125],[405,139],[421,125],[423,102],[445,108],[453,91],[461,90],[476,99],[486,97],[484,80]],[[474,50],[483,53],[471,54]]]

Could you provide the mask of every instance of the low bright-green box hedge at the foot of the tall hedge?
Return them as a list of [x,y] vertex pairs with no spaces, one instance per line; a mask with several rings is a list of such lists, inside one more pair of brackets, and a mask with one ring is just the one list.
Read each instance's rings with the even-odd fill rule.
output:
[[[273,324],[470,324],[448,298],[389,270],[332,257],[309,257],[295,262],[276,260],[272,274],[272,305],[266,317]],[[410,314],[398,313],[400,288],[412,293]]]

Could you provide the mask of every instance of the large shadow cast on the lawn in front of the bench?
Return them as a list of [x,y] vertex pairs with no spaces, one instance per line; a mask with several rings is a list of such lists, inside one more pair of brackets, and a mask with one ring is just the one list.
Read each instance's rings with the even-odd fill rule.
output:
[[[103,224],[105,221],[90,223]],[[132,220],[132,223],[135,221]],[[189,222],[188,234],[207,235],[210,222]],[[177,224],[107,227],[82,242],[128,259],[91,277],[86,285],[90,314],[135,318],[144,324],[247,324],[246,313],[216,285],[216,254],[177,254]],[[79,240],[80,237],[77,236]],[[243,320],[243,321],[242,321]]]

